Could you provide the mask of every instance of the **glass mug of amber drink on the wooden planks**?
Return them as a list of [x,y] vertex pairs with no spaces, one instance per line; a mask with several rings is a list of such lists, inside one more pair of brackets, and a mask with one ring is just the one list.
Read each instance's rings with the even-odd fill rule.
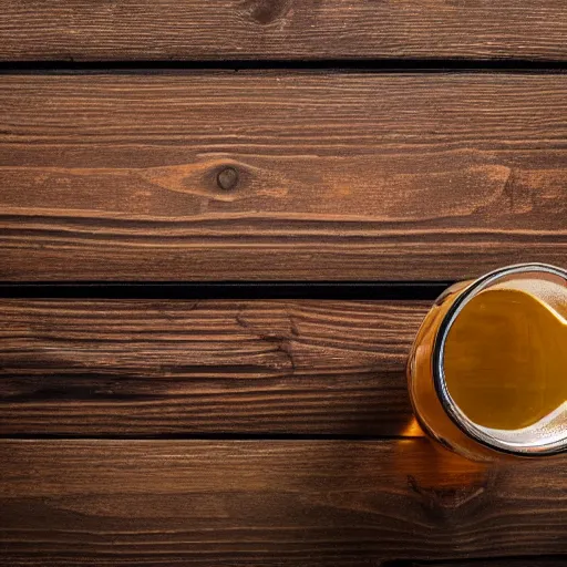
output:
[[422,429],[470,458],[567,451],[567,271],[524,264],[450,287],[408,379]]

